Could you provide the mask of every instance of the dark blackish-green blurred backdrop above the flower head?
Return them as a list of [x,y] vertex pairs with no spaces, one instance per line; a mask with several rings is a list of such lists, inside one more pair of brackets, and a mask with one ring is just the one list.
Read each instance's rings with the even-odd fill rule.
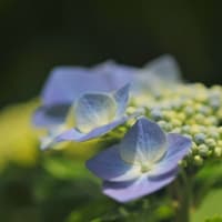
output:
[[0,107],[36,97],[54,65],[107,59],[171,53],[188,80],[221,83],[221,19],[215,0],[1,0]]

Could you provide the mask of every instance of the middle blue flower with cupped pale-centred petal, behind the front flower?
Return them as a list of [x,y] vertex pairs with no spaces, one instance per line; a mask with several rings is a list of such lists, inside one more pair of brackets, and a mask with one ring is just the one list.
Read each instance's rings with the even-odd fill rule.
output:
[[75,127],[57,137],[56,141],[87,141],[105,134],[140,112],[125,115],[129,84],[114,93],[85,93],[80,97],[73,112]]

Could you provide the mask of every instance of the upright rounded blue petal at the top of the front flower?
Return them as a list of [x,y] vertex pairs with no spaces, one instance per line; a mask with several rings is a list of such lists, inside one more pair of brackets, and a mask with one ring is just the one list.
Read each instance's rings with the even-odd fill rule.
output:
[[121,158],[128,163],[154,163],[165,151],[164,132],[145,118],[140,118],[120,143]]

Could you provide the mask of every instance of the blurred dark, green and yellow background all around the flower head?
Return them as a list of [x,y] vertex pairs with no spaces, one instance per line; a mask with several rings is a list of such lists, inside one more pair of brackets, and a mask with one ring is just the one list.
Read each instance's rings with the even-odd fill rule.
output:
[[[0,221],[172,221],[164,191],[158,204],[151,195],[127,206],[101,194],[84,168],[100,143],[41,152],[30,117],[56,65],[113,59],[142,67],[170,53],[184,79],[221,84],[221,7],[215,0],[0,0]],[[209,174],[221,179],[215,169]],[[210,195],[192,222],[221,212],[221,199],[222,190]]]

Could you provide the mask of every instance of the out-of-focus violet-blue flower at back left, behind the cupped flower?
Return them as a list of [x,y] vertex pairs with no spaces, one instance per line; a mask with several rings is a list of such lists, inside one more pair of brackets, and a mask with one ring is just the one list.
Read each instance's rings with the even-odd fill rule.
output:
[[84,93],[110,92],[131,82],[131,68],[105,62],[93,68],[60,67],[52,70],[41,93],[41,107],[34,112],[37,127],[63,124],[70,107]]

